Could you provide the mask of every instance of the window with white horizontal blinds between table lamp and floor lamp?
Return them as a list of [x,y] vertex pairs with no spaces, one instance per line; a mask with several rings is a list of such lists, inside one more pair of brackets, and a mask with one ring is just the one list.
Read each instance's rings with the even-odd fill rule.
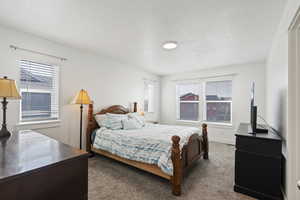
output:
[[20,61],[20,120],[55,120],[59,117],[57,66]]

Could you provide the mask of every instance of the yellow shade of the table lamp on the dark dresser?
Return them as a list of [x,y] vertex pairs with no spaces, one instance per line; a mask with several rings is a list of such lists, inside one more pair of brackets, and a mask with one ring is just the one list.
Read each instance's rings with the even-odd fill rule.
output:
[[8,79],[7,77],[0,78],[0,97],[21,99],[16,87],[16,81]]

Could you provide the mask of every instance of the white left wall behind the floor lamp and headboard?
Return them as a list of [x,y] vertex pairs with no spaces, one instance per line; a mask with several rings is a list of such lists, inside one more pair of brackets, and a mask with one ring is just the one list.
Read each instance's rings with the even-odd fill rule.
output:
[[[66,57],[60,60],[39,56],[22,51],[15,51],[9,45],[33,49],[48,54]],[[142,105],[144,95],[143,79],[158,80],[159,77],[143,72],[134,67],[115,62],[111,59],[94,55],[86,51],[56,44],[32,35],[0,27],[0,76],[19,79],[18,60],[57,64],[60,67],[60,124],[23,126],[22,129],[38,128],[38,131],[64,143],[79,146],[79,105],[70,105],[76,92],[84,88],[95,102],[94,108],[100,109],[113,104],[126,107],[137,101]],[[149,120],[159,117],[159,86],[156,87],[155,113],[147,115]],[[85,107],[86,119],[87,107]],[[2,112],[1,112],[2,113]],[[8,104],[8,126],[15,127],[19,122],[19,102]],[[0,121],[2,121],[2,114]],[[84,120],[84,124],[86,120]],[[47,128],[46,128],[47,127]],[[85,130],[85,126],[84,126]],[[83,137],[85,138],[85,137]]]

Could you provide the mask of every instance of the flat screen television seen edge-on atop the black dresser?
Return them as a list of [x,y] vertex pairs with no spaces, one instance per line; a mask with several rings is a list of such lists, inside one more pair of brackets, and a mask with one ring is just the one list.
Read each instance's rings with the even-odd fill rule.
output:
[[250,99],[250,125],[251,133],[268,133],[268,129],[257,128],[257,106],[254,101],[255,97],[255,82],[251,84],[251,99]]

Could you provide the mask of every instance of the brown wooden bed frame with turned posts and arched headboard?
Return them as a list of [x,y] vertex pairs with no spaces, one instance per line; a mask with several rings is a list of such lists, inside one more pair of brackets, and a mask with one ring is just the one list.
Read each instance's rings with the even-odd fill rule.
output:
[[[137,105],[134,104],[134,112],[137,111]],[[172,162],[173,162],[173,176],[164,173],[158,166],[152,164],[146,164],[138,161],[128,160],[121,158],[117,155],[111,154],[107,151],[93,148],[91,134],[97,128],[99,128],[94,116],[99,114],[114,113],[114,114],[127,114],[129,110],[120,105],[114,105],[107,109],[103,109],[100,112],[94,114],[93,104],[89,105],[88,110],[88,126],[86,133],[86,150],[91,154],[100,154],[119,162],[134,166],[144,171],[150,172],[167,180],[170,180],[172,184],[172,193],[176,196],[181,195],[181,183],[184,175],[188,169],[199,160],[202,156],[204,159],[208,159],[208,138],[207,138],[207,125],[202,124],[202,136],[193,134],[189,138],[188,144],[184,145],[182,151],[179,148],[180,137],[174,135],[172,137]]]

